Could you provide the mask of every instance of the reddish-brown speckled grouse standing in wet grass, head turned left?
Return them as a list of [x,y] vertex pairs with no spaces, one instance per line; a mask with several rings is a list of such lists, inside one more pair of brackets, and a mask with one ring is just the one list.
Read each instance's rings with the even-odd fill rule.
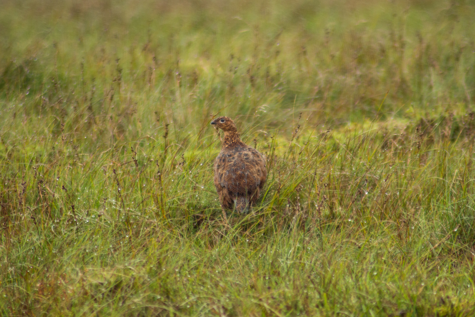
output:
[[256,203],[266,183],[266,162],[262,155],[239,138],[236,125],[226,116],[211,121],[224,131],[223,147],[214,161],[214,185],[223,212],[246,212]]

